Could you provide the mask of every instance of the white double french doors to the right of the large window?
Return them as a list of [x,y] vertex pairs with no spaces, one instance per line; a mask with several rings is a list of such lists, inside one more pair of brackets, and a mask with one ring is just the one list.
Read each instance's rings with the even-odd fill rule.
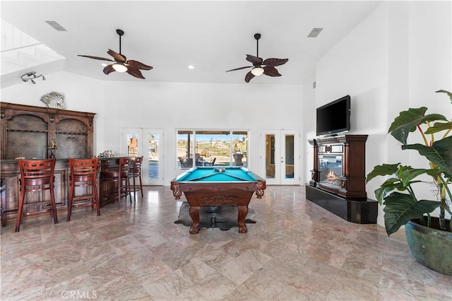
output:
[[269,185],[298,185],[299,166],[298,130],[261,131],[260,176]]

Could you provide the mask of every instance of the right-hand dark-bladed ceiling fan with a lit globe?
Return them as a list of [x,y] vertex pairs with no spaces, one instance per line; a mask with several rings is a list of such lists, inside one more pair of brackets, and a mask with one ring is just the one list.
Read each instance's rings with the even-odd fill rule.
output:
[[283,65],[283,64],[287,63],[287,61],[289,59],[275,59],[275,58],[270,58],[270,59],[266,59],[266,60],[261,59],[259,57],[259,39],[261,38],[261,34],[256,33],[256,35],[254,35],[254,38],[256,39],[256,43],[257,43],[256,57],[252,56],[251,54],[246,54],[246,61],[249,61],[251,64],[253,64],[253,66],[240,67],[240,68],[228,70],[226,72],[236,71],[236,70],[241,70],[241,69],[246,69],[246,68],[253,68],[253,69],[251,69],[251,71],[246,73],[246,76],[245,76],[246,83],[249,83],[249,81],[251,81],[251,78],[254,78],[254,76],[260,76],[262,73],[267,76],[281,76],[281,74],[278,72],[278,70],[275,68],[275,66]]

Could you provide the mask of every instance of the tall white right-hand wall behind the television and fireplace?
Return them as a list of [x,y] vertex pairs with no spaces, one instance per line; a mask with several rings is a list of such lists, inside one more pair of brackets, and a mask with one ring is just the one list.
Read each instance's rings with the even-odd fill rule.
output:
[[[367,173],[382,163],[425,164],[386,133],[408,107],[426,106],[451,119],[450,102],[434,93],[452,90],[451,53],[450,2],[394,1],[383,2],[319,61],[316,107],[351,96],[350,134],[369,134]],[[380,184],[369,182],[369,198]],[[381,207],[378,223],[384,224]]]

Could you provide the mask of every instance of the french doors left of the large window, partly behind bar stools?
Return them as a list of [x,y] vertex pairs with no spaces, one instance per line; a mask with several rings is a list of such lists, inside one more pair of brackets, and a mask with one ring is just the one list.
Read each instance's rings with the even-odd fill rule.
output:
[[129,157],[143,156],[143,185],[163,185],[162,129],[122,128],[121,153]]

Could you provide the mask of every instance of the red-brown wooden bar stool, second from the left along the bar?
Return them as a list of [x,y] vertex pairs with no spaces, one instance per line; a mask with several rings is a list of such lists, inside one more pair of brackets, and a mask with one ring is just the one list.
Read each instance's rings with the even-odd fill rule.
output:
[[[97,198],[97,160],[97,158],[69,158],[71,175],[69,176],[68,222],[71,220],[73,207],[96,206],[97,216],[100,216],[99,199]],[[75,196],[76,187],[85,187],[85,194]]]

